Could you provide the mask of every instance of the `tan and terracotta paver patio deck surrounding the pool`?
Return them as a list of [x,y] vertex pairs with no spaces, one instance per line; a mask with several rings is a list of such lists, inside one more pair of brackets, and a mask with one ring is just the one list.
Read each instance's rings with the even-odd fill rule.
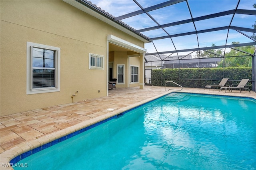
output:
[[[167,87],[168,89],[170,87]],[[45,144],[47,141],[52,141],[62,135],[87,127],[172,91],[174,90],[168,92],[165,91],[165,87],[156,86],[145,86],[145,89],[138,87],[114,89],[109,91],[109,96],[106,97],[1,117],[0,153],[15,148],[15,150],[20,149],[20,151],[16,151],[20,154],[27,149],[38,147],[42,143]],[[249,93],[248,91],[242,93],[227,91],[225,93],[219,90],[183,88],[181,92],[233,95],[256,99],[256,93]],[[108,111],[108,108],[115,110]],[[33,144],[34,146],[31,146]],[[26,149],[22,150],[21,148],[24,146]]]

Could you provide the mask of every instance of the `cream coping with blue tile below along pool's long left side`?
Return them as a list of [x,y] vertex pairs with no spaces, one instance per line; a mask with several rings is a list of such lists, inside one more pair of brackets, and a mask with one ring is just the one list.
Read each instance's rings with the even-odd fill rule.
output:
[[[167,95],[169,93],[171,93],[171,92],[166,92],[164,94],[157,95],[157,96],[152,97],[150,99],[146,99],[146,100],[138,102],[136,104],[129,105],[129,106],[124,107],[124,108],[119,109],[119,110],[114,110],[110,113],[101,115],[101,116],[93,118],[91,120],[83,121],[83,122],[78,123],[77,125],[74,125],[72,127],[62,129],[58,132],[55,132],[55,133],[51,134],[52,135],[51,138],[47,138],[47,136],[42,136],[40,138],[37,138],[36,140],[26,142],[26,144],[23,144],[23,146],[18,147],[18,149],[20,151],[19,152],[20,154],[18,154],[18,152],[16,152],[16,155],[9,154],[7,160],[9,160],[10,163],[15,164],[18,161],[36,153],[36,152],[39,152],[39,151],[41,151],[45,148],[53,146],[54,144],[62,142],[62,141],[66,140],[68,138],[71,138],[71,137],[73,137],[77,134],[80,134],[80,132],[85,132],[86,130],[89,130],[93,127],[101,125],[102,123],[105,123],[105,122],[110,121],[112,119],[116,119],[116,118],[118,118],[118,115],[124,115],[126,112],[130,111],[131,109],[135,109],[136,107],[139,107],[140,105],[143,105],[145,103],[148,103],[149,101],[158,99],[159,97],[162,97],[162,96]],[[23,149],[20,150],[20,148],[25,148],[25,150],[23,150]],[[12,150],[12,151],[15,152],[16,148],[13,148],[13,149],[14,150]]]

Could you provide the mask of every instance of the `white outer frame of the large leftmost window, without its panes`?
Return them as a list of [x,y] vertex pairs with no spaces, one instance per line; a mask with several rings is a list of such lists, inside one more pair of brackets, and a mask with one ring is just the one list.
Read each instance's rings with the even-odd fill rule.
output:
[[[55,52],[54,54],[54,69],[55,69],[55,77],[54,77],[54,87],[43,87],[43,88],[33,88],[33,65],[32,65],[32,49],[33,47],[41,48],[41,49],[49,49]],[[57,92],[60,91],[60,48],[53,47],[49,45],[43,45],[39,43],[27,42],[27,67],[26,67],[26,94],[38,94],[38,93],[49,93],[49,92]]]

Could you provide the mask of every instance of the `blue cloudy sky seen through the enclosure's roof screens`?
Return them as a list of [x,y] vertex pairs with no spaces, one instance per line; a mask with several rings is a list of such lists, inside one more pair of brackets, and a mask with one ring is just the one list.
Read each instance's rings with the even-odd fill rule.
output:
[[[143,7],[147,8],[167,0],[137,0],[137,2]],[[105,10],[112,16],[118,17],[124,14],[140,10],[139,6],[134,3],[133,0],[91,0],[93,4]],[[238,9],[255,10],[253,4],[255,0],[241,0]],[[191,10],[193,18],[209,15],[213,13],[223,12],[227,10],[234,10],[238,4],[238,0],[188,0],[188,4]],[[180,20],[190,19],[191,15],[188,10],[186,2],[180,2],[178,4],[167,6],[158,10],[148,12],[159,24],[168,24]],[[222,26],[229,26],[232,20],[232,15],[212,18],[208,20],[201,20],[195,22],[197,30],[205,30],[210,28],[217,28]],[[238,26],[244,28],[253,28],[252,25],[256,21],[255,15],[243,15],[235,14],[231,26]],[[136,30],[157,26],[157,24],[147,15],[140,14],[130,18],[123,19],[122,22],[128,24]],[[195,31],[193,23],[181,24],[177,26],[164,28],[168,34],[180,34],[184,32]],[[159,36],[167,36],[166,32],[162,29],[142,32],[142,34],[154,38]],[[212,43],[216,45],[225,45],[228,30],[222,30],[217,32],[208,32],[198,34],[199,46],[209,47]],[[252,36],[252,33],[244,32],[248,36]],[[176,49],[190,49],[198,47],[196,35],[182,36],[172,38]],[[253,42],[251,39],[240,34],[235,30],[230,30],[228,34],[227,44],[231,44],[233,41],[240,43]],[[158,52],[174,50],[170,38],[154,41]],[[145,48],[147,52],[156,52],[152,43],[146,43]]]

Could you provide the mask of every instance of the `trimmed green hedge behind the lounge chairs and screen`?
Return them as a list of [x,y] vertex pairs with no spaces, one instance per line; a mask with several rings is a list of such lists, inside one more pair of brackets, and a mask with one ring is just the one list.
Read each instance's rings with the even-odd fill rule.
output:
[[[252,79],[252,67],[226,67],[223,68],[191,68],[180,69],[161,69],[152,70],[151,83],[154,86],[165,86],[166,81],[174,81],[182,87],[204,88],[206,85],[219,84],[223,78],[229,78],[227,84],[237,86],[242,79]],[[201,81],[200,81],[201,76]],[[162,78],[161,78],[162,77]],[[173,83],[167,83],[167,86],[176,86]],[[248,82],[247,86],[252,87]]]

